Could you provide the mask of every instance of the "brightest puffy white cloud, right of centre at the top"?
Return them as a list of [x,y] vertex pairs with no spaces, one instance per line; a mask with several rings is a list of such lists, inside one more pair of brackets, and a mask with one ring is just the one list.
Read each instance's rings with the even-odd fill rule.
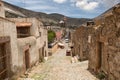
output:
[[78,0],[76,1],[76,7],[83,9],[83,10],[94,10],[98,7],[99,3],[98,2],[90,2],[88,0]]

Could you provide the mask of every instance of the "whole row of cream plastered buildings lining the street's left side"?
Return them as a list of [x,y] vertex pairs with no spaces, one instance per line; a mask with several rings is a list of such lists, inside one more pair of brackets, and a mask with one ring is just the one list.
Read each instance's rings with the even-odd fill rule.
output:
[[36,18],[0,16],[0,80],[16,79],[48,57],[47,30]]

